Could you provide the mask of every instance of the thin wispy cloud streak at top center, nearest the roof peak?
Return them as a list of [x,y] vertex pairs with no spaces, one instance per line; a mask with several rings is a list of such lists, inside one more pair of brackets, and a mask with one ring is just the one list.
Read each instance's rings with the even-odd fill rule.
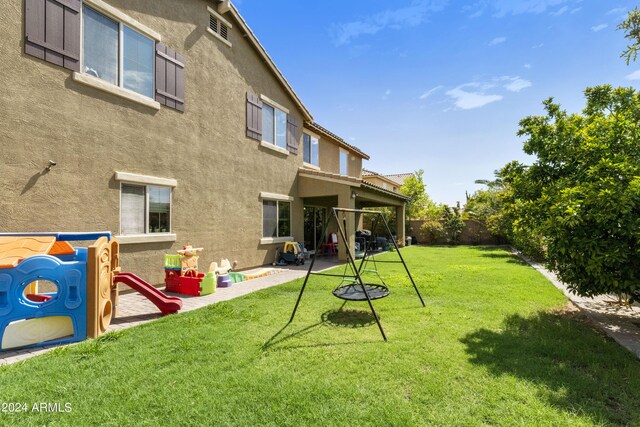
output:
[[335,24],[331,35],[336,46],[350,43],[362,35],[373,35],[387,28],[401,29],[422,24],[432,12],[442,10],[448,0],[413,0],[409,6],[389,9],[358,21]]

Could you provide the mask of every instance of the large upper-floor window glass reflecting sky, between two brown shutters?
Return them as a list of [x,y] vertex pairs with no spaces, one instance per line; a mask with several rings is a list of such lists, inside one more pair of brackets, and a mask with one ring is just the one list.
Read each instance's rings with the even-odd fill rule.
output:
[[152,98],[155,41],[87,5],[82,19],[83,72]]

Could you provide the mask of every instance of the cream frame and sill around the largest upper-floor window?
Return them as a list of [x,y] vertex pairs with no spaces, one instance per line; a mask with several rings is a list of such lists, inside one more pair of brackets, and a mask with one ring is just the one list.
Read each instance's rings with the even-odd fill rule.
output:
[[[101,78],[92,76],[90,74],[85,73],[84,71],[84,18],[80,19],[80,72],[73,73],[73,80],[85,84],[87,86],[91,86],[95,89],[101,90],[103,92],[108,92],[112,95],[116,95],[120,98],[125,98],[130,101],[137,102],[138,104],[145,105],[147,107],[153,108],[155,110],[160,109],[160,103],[154,99],[155,91],[156,91],[156,80],[155,80],[155,58],[153,60],[153,89],[152,89],[152,97],[148,97],[146,95],[142,95],[138,92],[135,92],[130,89],[126,89],[123,87],[124,84],[124,26],[129,27],[133,31],[136,31],[143,36],[155,41],[162,41],[162,37],[159,33],[147,27],[146,25],[141,24],[135,19],[131,18],[129,15],[122,13],[118,9],[109,4],[105,3],[102,0],[84,0],[82,2],[84,13],[84,6],[89,6],[90,8],[96,10],[97,12],[113,19],[118,22],[118,84],[114,85],[109,83]],[[155,51],[155,47],[154,47]]]

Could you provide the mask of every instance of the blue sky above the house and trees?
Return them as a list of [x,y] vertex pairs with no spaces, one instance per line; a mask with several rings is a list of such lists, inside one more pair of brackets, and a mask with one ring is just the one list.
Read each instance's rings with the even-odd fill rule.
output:
[[640,83],[616,31],[635,2],[234,3],[318,123],[369,154],[368,169],[424,169],[441,203],[531,162],[518,122],[544,99],[579,112],[588,86]]

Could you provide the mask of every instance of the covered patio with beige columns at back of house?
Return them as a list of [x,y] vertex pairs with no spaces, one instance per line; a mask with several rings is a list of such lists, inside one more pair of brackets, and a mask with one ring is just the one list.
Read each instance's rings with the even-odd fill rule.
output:
[[[337,230],[331,218],[330,208],[369,209],[391,208],[395,211],[396,225],[391,233],[396,236],[398,246],[405,240],[405,203],[408,198],[364,182],[359,178],[337,175],[319,170],[301,168],[298,172],[298,195],[303,199],[305,211],[304,241],[307,249],[320,249],[320,242]],[[352,253],[355,251],[356,231],[362,230],[362,214],[345,213],[346,238]],[[327,236],[322,236],[322,225],[329,219]],[[340,242],[338,243],[340,245]],[[346,252],[338,251],[338,258],[346,260]]]

